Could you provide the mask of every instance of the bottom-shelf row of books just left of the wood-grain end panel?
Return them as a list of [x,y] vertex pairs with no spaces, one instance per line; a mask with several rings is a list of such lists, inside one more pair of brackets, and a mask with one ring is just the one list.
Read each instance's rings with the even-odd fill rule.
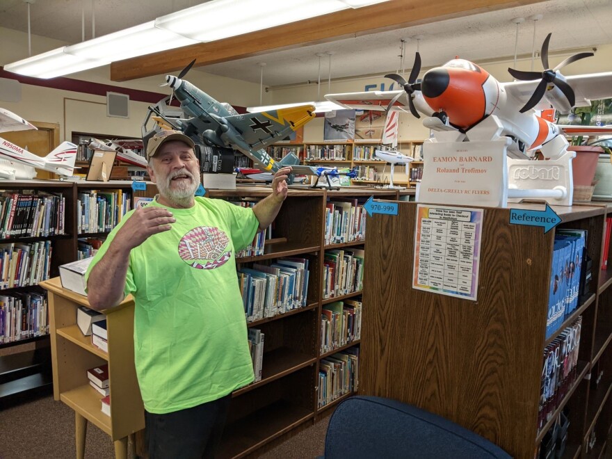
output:
[[358,373],[359,348],[348,348],[322,359],[319,363],[319,408],[357,391]]

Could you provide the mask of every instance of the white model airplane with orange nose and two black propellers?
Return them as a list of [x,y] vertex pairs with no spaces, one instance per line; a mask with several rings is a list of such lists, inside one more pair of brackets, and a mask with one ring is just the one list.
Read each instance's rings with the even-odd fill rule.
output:
[[417,53],[408,81],[398,74],[386,75],[400,83],[403,90],[331,94],[325,98],[347,108],[379,111],[408,108],[417,118],[420,118],[419,113],[428,117],[424,120],[426,127],[460,131],[467,134],[468,139],[470,130],[495,115],[501,122],[499,136],[513,140],[508,154],[514,157],[529,155],[529,151],[545,146],[563,133],[612,132],[611,127],[563,126],[540,118],[540,110],[552,107],[567,113],[574,106],[590,106],[590,100],[612,96],[612,72],[573,77],[564,77],[559,72],[565,65],[593,56],[593,53],[575,54],[551,69],[548,63],[550,36],[542,45],[543,72],[508,69],[513,77],[530,81],[500,83],[482,67],[456,58],[442,67],[428,70],[417,82],[421,70],[421,58]]

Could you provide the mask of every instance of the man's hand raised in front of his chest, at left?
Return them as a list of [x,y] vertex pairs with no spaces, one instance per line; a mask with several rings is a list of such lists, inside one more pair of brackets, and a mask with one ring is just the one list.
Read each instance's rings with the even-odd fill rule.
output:
[[[170,230],[176,219],[168,209],[156,206],[141,207],[127,219],[115,235],[114,241],[131,250],[145,242],[153,234]],[[114,242],[113,241],[113,242]]]

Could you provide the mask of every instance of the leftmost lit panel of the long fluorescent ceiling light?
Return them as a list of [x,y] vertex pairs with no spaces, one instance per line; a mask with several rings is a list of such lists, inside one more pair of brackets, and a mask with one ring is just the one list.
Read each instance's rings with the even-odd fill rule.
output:
[[37,56],[22,59],[4,66],[4,70],[14,72],[28,77],[55,78],[61,75],[82,72],[110,61],[73,56],[65,53],[65,47],[53,49]]

